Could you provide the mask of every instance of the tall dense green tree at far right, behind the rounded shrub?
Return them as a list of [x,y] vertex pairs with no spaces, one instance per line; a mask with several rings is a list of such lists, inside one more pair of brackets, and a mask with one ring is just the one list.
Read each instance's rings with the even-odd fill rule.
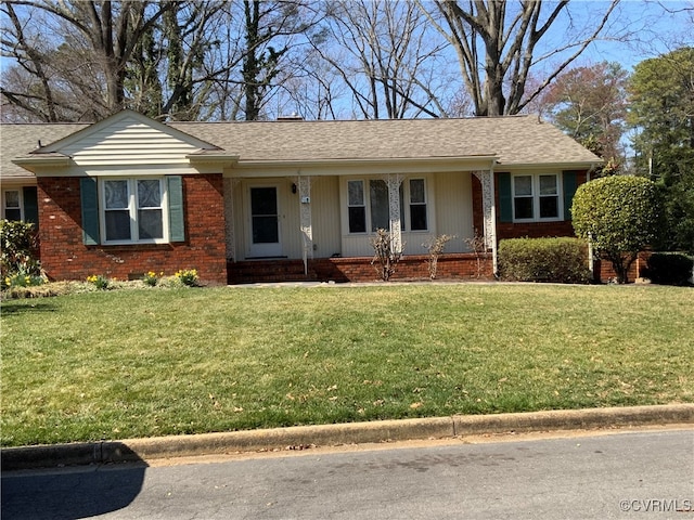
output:
[[694,252],[694,48],[638,64],[629,94],[637,171],[665,196],[668,225],[658,245]]

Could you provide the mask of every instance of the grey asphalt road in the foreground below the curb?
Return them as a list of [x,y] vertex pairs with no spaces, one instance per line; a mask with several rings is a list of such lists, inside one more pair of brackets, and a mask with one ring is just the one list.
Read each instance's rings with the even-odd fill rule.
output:
[[313,448],[2,474],[3,520],[94,516],[694,518],[694,430]]

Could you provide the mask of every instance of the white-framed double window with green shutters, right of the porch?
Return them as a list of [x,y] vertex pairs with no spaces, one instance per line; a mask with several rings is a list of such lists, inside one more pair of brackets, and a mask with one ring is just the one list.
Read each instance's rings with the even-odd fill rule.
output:
[[513,176],[512,196],[514,221],[561,220],[558,173]]

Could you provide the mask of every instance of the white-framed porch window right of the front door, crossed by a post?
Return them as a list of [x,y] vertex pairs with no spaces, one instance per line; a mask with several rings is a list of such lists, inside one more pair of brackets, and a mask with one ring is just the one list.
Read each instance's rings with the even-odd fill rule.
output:
[[[426,182],[409,179],[400,184],[400,229],[427,231]],[[406,211],[407,209],[407,211]],[[390,226],[388,185],[382,179],[347,181],[347,221],[349,233],[374,233]]]

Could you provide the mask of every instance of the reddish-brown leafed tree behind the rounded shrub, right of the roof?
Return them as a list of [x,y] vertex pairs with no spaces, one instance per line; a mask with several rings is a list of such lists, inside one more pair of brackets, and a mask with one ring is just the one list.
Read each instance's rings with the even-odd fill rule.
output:
[[552,122],[606,160],[602,174],[624,162],[627,78],[618,63],[602,62],[562,74],[543,95]]

